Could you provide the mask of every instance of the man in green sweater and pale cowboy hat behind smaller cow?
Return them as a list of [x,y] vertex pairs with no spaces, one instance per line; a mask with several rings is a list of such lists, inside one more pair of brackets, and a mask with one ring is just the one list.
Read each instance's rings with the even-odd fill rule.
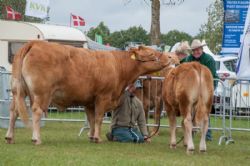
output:
[[[202,65],[208,67],[208,69],[211,71],[214,79],[219,79],[219,77],[216,73],[214,58],[211,55],[206,54],[203,51],[203,46],[205,46],[205,45],[206,44],[202,44],[200,40],[194,39],[192,41],[192,44],[191,44],[192,54],[187,56],[183,60],[183,62],[193,62],[193,61],[199,62]],[[216,89],[217,84],[218,84],[218,81],[214,81],[214,89]],[[210,119],[209,119],[209,127],[210,127]],[[206,140],[212,141],[212,132],[210,129],[208,129],[208,131],[207,131]]]

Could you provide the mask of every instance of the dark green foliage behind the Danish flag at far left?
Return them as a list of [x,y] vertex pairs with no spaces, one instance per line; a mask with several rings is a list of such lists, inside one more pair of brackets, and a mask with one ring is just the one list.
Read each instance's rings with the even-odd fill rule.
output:
[[26,0],[0,0],[0,19],[6,19],[6,6],[10,6],[15,11],[22,14],[23,21],[27,22],[43,22],[47,21],[49,18],[46,19],[40,19],[30,16],[25,16],[25,7],[26,7]]

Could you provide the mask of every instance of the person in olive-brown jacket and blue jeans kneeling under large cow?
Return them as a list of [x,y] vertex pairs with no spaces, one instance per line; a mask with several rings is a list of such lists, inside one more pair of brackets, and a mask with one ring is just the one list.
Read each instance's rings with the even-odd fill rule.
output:
[[[137,84],[136,84],[137,85]],[[121,96],[118,108],[113,111],[109,141],[150,142],[142,102],[134,95],[136,87],[130,84]]]

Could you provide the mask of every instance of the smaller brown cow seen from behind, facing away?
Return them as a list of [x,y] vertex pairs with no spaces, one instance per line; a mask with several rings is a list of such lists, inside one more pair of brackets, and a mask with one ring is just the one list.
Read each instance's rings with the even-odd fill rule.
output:
[[171,69],[163,82],[163,100],[170,123],[170,147],[176,147],[176,113],[183,116],[184,145],[194,151],[193,123],[201,128],[200,152],[206,151],[206,132],[213,101],[213,76],[197,62]]

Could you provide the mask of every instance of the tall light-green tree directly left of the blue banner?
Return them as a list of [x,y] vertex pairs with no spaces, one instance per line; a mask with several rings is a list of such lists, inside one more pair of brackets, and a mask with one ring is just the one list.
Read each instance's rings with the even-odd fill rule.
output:
[[218,53],[221,50],[223,30],[223,1],[216,0],[207,8],[208,21],[201,25],[197,38],[206,40],[212,52]]

